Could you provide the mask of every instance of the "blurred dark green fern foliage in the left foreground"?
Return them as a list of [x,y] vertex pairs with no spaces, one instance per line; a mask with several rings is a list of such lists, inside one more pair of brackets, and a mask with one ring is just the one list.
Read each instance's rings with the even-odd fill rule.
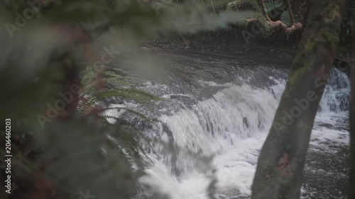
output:
[[[214,6],[219,4],[226,2]],[[104,102],[144,105],[160,98],[135,89],[134,78],[121,74],[113,60],[126,52],[137,59],[140,42],[158,35],[216,30],[253,16],[217,15],[193,1],[158,11],[143,0],[4,0],[0,13],[0,142],[5,145],[4,121],[10,118],[13,156],[11,194],[5,192],[6,164],[0,164],[0,198],[21,199],[137,195],[144,147],[151,143],[124,114],[105,115],[110,108]],[[135,110],[117,109],[150,121]]]

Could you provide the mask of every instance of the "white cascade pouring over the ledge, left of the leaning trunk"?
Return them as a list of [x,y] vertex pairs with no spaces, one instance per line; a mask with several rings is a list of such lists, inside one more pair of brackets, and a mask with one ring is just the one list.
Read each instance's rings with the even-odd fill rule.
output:
[[[249,85],[231,86],[200,101],[192,110],[163,116],[161,120],[170,130],[162,132],[163,137],[168,142],[168,137],[172,137],[170,142],[173,140],[178,150],[187,149],[202,157],[215,155],[212,166],[217,169],[220,195],[249,194],[257,149],[277,106],[278,101],[269,91]],[[155,159],[154,166],[148,169],[150,175],[141,182],[155,183],[155,188],[170,198],[206,198],[210,180],[201,172],[205,169],[197,168],[200,165],[196,164],[196,157],[181,152],[169,158]],[[170,178],[170,185],[163,180],[166,178]]]

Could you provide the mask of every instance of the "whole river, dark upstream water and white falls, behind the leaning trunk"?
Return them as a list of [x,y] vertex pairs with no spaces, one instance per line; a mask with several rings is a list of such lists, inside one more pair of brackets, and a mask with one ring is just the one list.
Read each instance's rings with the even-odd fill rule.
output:
[[[158,121],[145,130],[155,153],[139,179],[141,196],[249,198],[290,59],[207,47],[143,50],[154,64],[131,75],[147,80],[138,89],[164,100],[149,110],[126,101],[110,105]],[[302,198],[346,198],[348,93],[349,79],[333,69],[312,131]]]

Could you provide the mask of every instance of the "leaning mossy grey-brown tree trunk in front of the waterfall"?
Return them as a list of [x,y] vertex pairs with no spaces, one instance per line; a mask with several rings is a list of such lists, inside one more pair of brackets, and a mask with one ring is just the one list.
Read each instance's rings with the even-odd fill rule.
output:
[[333,66],[344,3],[344,0],[311,1],[307,27],[258,158],[252,199],[300,198],[305,155]]

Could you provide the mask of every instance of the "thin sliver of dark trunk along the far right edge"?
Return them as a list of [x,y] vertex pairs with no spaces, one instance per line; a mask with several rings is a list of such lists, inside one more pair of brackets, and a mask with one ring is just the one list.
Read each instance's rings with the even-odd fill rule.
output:
[[351,30],[351,66],[350,79],[351,79],[351,95],[350,95],[350,181],[349,181],[349,199],[355,199],[355,15],[353,14],[353,28]]

